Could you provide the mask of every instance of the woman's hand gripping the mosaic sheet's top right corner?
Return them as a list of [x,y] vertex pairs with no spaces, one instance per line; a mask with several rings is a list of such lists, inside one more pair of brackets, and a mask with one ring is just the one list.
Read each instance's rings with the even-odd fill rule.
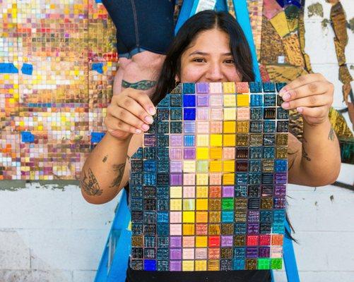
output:
[[333,102],[334,85],[320,73],[302,75],[283,87],[283,109],[296,109],[309,125],[326,121]]

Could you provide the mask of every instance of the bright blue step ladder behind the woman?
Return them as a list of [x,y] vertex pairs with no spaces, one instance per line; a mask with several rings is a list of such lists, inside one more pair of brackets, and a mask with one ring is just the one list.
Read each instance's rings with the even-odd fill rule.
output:
[[[252,53],[252,62],[255,80],[261,82],[261,74],[254,47],[252,27],[249,23],[247,0],[233,0],[235,16],[237,22],[242,27],[247,38],[249,48]],[[184,0],[179,18],[176,23],[175,33],[183,23],[199,11],[206,9],[216,9],[217,11],[228,11],[226,0]],[[100,265],[95,276],[95,282],[124,282],[128,258],[131,251],[131,214],[128,208],[128,197],[126,190],[122,190],[121,198],[115,210],[114,220],[110,229],[110,234],[103,250]],[[291,233],[288,221],[285,220],[285,229]],[[295,259],[293,241],[284,236],[283,240],[283,260],[288,282],[300,282]],[[273,271],[271,271],[272,282],[275,282]]]

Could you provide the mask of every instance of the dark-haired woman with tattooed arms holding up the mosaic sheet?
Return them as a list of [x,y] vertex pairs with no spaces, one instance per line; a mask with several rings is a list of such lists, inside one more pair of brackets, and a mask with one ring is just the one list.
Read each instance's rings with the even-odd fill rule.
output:
[[[173,40],[155,93],[127,88],[112,97],[105,124],[108,134],[91,152],[81,173],[83,197],[90,203],[112,200],[129,180],[129,157],[142,146],[153,123],[155,105],[176,82],[252,81],[252,61],[240,26],[228,13],[203,11],[187,20]],[[281,90],[284,109],[304,118],[303,142],[289,134],[289,182],[333,183],[340,168],[338,140],[329,123],[333,85],[322,75],[297,78]],[[269,281],[269,271],[133,271],[127,281]]]

